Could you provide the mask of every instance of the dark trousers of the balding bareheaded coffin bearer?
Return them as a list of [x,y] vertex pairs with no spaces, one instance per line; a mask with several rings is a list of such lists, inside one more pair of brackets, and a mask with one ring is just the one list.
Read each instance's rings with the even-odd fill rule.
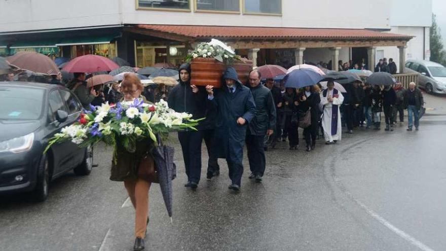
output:
[[264,137],[259,135],[246,135],[246,148],[248,152],[249,169],[255,175],[263,176],[265,172]]

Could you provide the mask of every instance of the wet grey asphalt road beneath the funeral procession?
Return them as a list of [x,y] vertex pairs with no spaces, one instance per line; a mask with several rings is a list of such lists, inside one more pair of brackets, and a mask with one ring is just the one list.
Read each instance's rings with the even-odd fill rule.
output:
[[[203,169],[199,188],[185,189],[173,137],[173,225],[154,185],[147,250],[446,250],[446,98],[427,99],[418,132],[359,128],[311,153],[302,139],[298,151],[282,142],[267,152],[262,184],[248,180],[245,161],[239,194],[223,160],[219,177]],[[132,250],[134,210],[108,180],[111,155],[95,148],[91,175],[67,173],[44,203],[0,197],[0,250]]]

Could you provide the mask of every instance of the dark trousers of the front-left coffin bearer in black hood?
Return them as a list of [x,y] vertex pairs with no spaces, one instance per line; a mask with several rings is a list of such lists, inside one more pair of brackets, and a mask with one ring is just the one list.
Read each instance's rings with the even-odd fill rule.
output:
[[178,132],[178,139],[183,153],[184,166],[189,182],[200,182],[202,131]]

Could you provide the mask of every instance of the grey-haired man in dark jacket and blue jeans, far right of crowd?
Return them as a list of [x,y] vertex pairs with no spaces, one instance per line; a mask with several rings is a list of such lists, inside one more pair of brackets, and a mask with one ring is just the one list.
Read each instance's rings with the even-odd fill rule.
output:
[[420,125],[420,109],[424,105],[423,94],[414,82],[409,84],[409,89],[404,92],[404,107],[407,109],[407,131],[412,131],[415,119],[415,130]]

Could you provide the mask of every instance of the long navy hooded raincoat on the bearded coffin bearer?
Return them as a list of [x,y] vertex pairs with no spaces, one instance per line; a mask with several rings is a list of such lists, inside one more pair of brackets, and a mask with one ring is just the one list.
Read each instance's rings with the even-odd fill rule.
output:
[[[223,78],[235,80],[236,90],[230,93],[229,88],[223,85],[215,90],[213,99],[209,100],[217,113],[214,148],[218,158],[229,158],[242,163],[246,129],[255,116],[255,102],[251,90],[238,80],[234,67],[228,67]],[[244,125],[237,123],[240,117],[245,119]]]

